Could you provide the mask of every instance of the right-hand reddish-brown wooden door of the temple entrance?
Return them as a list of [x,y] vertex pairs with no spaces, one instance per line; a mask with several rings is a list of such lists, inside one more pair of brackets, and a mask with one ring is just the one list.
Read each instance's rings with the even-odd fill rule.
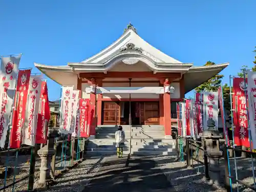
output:
[[145,102],[144,119],[147,125],[159,124],[159,102]]

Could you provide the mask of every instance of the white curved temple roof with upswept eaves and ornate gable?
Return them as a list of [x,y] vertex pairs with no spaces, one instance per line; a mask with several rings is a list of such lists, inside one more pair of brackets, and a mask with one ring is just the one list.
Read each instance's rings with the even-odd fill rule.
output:
[[[148,44],[137,34],[137,30],[131,24],[112,45],[86,60],[68,62],[67,66],[47,66],[39,63],[34,63],[34,65],[49,78],[65,86],[68,82],[77,80],[79,73],[108,73],[120,63],[126,63],[125,60],[132,63],[129,64],[129,69],[133,68],[136,63],[142,62],[153,73],[184,74],[186,93],[229,65],[228,62],[212,66],[193,66],[193,63],[182,63]],[[119,68],[119,70],[124,69]]]

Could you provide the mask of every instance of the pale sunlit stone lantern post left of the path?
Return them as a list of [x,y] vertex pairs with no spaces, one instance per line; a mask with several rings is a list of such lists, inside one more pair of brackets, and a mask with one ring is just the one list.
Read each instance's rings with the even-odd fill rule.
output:
[[48,143],[37,151],[37,154],[41,158],[41,166],[39,180],[35,183],[35,188],[46,188],[52,182],[50,176],[51,159],[56,152],[54,149],[54,139],[56,137],[58,137],[58,131],[49,130]]

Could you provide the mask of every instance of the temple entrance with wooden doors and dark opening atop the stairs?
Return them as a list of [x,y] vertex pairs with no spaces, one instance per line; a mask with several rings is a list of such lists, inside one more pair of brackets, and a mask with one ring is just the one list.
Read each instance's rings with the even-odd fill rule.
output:
[[[104,101],[103,125],[129,125],[129,101]],[[159,102],[131,101],[132,125],[159,125]]]

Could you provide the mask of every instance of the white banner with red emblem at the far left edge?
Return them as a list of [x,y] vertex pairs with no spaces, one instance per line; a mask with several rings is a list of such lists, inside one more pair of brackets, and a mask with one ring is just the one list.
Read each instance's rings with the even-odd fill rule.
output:
[[15,94],[16,79],[20,57],[1,57],[0,69],[0,147],[5,146],[8,125],[10,123],[13,98]]

